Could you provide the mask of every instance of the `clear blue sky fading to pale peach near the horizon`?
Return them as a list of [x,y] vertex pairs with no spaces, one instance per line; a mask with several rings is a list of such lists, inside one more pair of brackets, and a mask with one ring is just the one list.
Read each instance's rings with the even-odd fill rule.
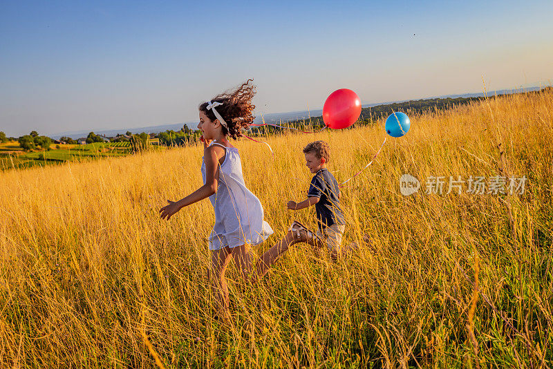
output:
[[254,78],[256,113],[553,82],[553,1],[1,1],[0,131],[198,119]]

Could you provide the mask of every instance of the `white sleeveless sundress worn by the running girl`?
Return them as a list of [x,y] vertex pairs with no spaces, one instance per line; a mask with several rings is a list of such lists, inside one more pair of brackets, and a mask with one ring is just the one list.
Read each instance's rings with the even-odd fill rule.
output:
[[[237,247],[244,244],[259,245],[273,230],[263,220],[263,207],[259,198],[246,188],[242,175],[242,162],[236,147],[222,146],[225,160],[219,169],[217,192],[209,196],[215,211],[215,225],[209,235],[209,249]],[[205,184],[205,161],[202,158],[202,178]]]

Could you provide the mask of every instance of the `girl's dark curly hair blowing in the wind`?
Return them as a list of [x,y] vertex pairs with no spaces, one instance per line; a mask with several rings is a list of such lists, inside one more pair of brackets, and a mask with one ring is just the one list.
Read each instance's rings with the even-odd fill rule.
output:
[[[247,129],[254,122],[252,114],[255,105],[252,104],[252,98],[256,91],[255,86],[250,82],[253,79],[248,79],[234,91],[225,91],[214,97],[212,102],[221,102],[223,105],[217,106],[217,113],[227,122],[228,129],[222,126],[223,134],[229,135],[234,140],[241,137],[241,129]],[[203,111],[212,122],[217,119],[212,109],[207,110],[207,102],[198,106],[198,110]]]

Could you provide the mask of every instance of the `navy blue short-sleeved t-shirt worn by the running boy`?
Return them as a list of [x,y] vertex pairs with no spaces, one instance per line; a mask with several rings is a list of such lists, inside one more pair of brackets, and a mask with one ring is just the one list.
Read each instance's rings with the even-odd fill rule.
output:
[[335,224],[346,224],[344,214],[340,209],[339,193],[340,188],[336,178],[326,168],[319,170],[311,180],[307,196],[319,198],[319,202],[315,204],[319,229]]

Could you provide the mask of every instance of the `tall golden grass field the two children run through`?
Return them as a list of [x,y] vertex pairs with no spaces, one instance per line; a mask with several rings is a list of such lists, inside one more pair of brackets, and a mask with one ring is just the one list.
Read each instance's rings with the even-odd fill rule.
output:
[[[234,142],[275,234],[315,225],[301,149],[331,147],[339,182],[371,160],[382,121]],[[500,154],[500,151],[503,154]],[[488,368],[553,366],[553,91],[411,115],[348,182],[335,264],[294,245],[256,285],[229,267],[232,316],[215,319],[208,200],[158,209],[201,185],[203,149],[0,173],[2,368]],[[400,194],[403,173],[422,184]],[[514,196],[424,193],[430,176],[527,177]]]

